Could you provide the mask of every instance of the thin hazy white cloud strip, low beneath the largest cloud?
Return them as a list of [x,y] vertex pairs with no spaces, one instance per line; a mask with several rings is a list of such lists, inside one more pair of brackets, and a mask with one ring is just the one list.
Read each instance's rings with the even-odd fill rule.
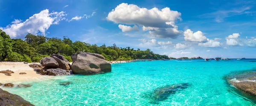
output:
[[168,48],[169,45],[172,45],[172,42],[157,42],[156,39],[139,39],[140,47],[157,47],[157,48]]

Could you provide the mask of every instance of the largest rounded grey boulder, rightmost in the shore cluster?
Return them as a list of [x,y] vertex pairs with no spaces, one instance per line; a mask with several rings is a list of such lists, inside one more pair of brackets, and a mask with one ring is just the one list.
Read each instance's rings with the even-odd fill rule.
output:
[[96,53],[79,52],[72,55],[71,69],[74,74],[91,75],[111,72],[111,64]]

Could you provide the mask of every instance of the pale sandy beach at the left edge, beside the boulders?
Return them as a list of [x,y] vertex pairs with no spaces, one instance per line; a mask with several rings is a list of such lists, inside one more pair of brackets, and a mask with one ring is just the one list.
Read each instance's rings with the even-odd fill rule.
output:
[[[31,63],[29,63],[31,64]],[[15,83],[19,81],[32,81],[45,76],[37,74],[33,68],[29,67],[29,64],[24,64],[23,62],[0,62],[0,71],[2,70],[12,70],[12,76],[4,75],[0,73],[0,83]],[[20,75],[19,73],[26,73]]]

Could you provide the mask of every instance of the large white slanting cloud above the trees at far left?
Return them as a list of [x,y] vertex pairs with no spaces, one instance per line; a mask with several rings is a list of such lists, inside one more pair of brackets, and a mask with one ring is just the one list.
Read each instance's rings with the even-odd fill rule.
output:
[[48,9],[34,14],[24,22],[15,20],[11,25],[2,28],[10,37],[25,36],[27,33],[45,35],[46,31],[52,24],[58,24],[61,20],[65,20],[65,12],[52,12],[49,13]]

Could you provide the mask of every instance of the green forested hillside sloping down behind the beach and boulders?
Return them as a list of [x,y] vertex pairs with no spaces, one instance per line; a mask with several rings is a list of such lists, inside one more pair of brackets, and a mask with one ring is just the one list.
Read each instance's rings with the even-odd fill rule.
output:
[[90,45],[86,42],[72,42],[68,37],[63,39],[47,38],[28,33],[25,40],[11,39],[0,29],[0,61],[39,62],[52,54],[61,54],[72,61],[73,53],[84,51],[102,54],[108,61],[132,59],[169,59],[166,55],[154,54],[150,49],[140,50],[131,47]]

